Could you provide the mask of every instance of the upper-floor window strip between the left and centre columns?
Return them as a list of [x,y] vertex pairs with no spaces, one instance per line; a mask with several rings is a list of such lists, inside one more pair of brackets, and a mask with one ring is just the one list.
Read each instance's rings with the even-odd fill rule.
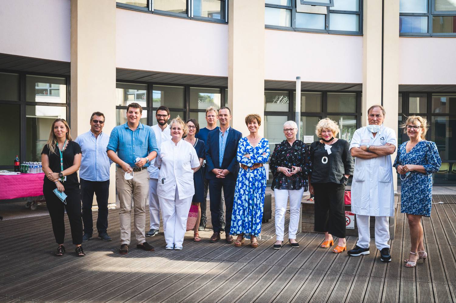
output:
[[161,15],[228,22],[226,0],[117,0],[117,6]]

